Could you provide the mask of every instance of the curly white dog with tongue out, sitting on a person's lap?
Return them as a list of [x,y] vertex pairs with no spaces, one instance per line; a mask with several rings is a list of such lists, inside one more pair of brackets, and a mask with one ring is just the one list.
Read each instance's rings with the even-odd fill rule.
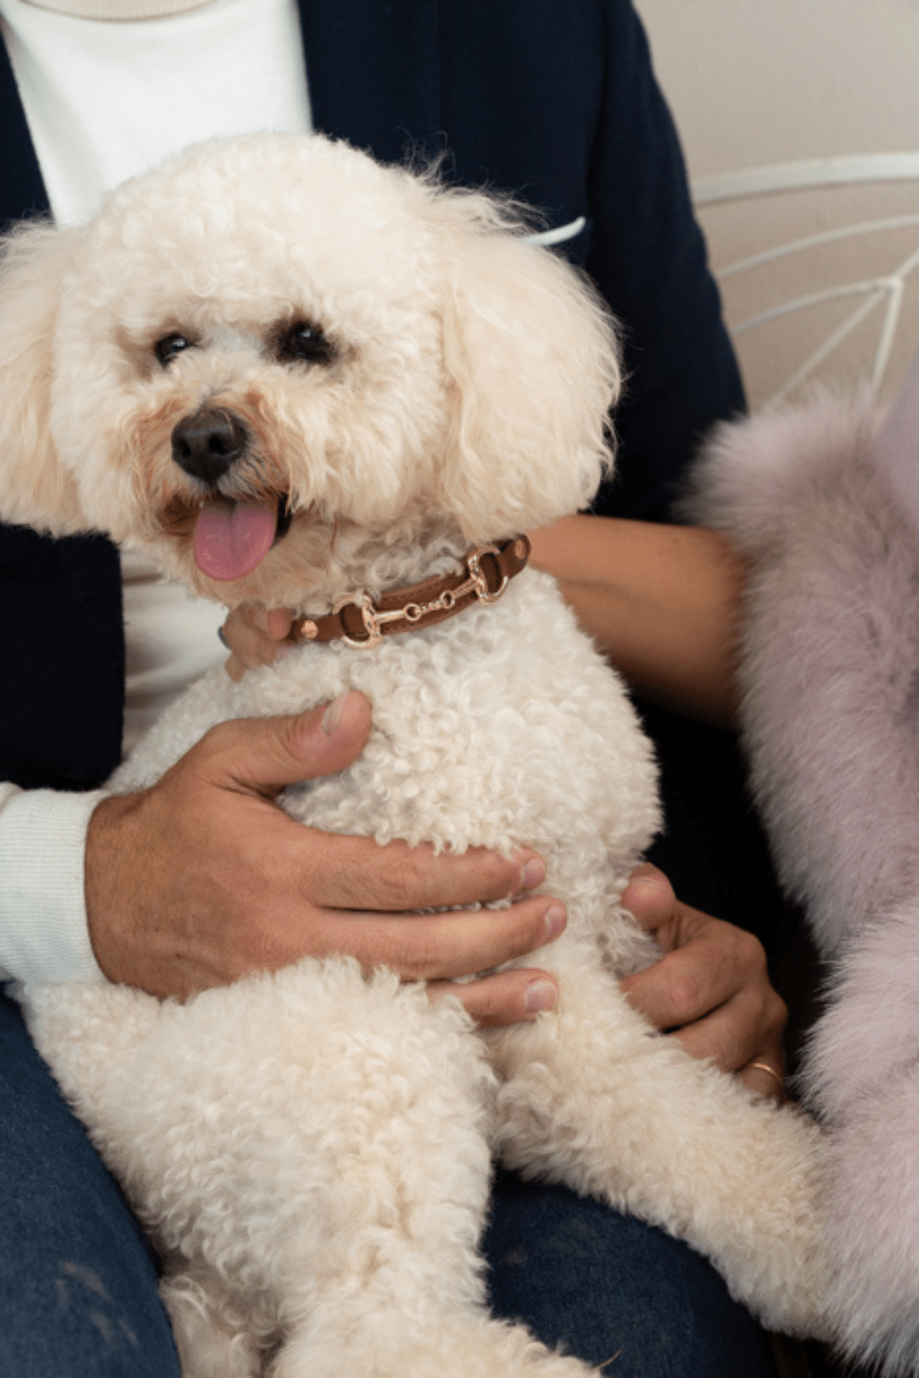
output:
[[7,521],[101,529],[303,619],[281,664],[207,675],[113,790],[220,719],[360,689],[364,755],[284,808],[532,845],[569,914],[536,959],[557,1013],[488,1032],[347,959],[185,1003],[26,989],[161,1251],[183,1371],[587,1372],[485,1312],[492,1155],[682,1236],[766,1324],[818,1328],[818,1131],[624,999],[654,956],[619,907],[659,823],[652,754],[553,582],[521,572],[518,533],[583,507],[609,459],[615,332],[588,288],[482,196],[321,138],[218,141],[85,229],[14,236],[0,360]]

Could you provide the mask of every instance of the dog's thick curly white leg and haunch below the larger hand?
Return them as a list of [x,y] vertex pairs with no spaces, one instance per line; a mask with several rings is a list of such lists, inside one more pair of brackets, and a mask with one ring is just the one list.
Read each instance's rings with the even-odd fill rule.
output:
[[34,1027],[183,1259],[186,1378],[255,1356],[277,1378],[583,1378],[485,1312],[495,1082],[456,1002],[304,962],[186,1005],[50,991]]

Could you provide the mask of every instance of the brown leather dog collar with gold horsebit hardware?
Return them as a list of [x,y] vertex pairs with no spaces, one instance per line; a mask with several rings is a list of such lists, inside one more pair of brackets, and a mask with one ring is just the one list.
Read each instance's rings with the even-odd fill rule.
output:
[[477,546],[463,568],[406,588],[391,588],[376,602],[369,594],[343,599],[322,617],[300,617],[291,628],[295,641],[343,641],[366,649],[398,631],[433,627],[477,602],[497,602],[508,582],[529,559],[529,540],[514,536],[500,546]]

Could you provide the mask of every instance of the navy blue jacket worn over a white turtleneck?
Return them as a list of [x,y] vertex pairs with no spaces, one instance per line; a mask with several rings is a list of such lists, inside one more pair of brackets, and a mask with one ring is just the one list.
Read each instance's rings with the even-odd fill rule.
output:
[[[550,225],[584,216],[564,249],[624,324],[630,379],[619,474],[598,510],[664,515],[700,434],[741,409],[743,393],[630,0],[300,0],[300,11],[317,128],[386,161],[442,156],[451,179],[510,190]],[[0,131],[0,222],[47,209],[1,45]],[[0,528],[0,779],[87,788],[117,762],[118,599],[103,539]]]

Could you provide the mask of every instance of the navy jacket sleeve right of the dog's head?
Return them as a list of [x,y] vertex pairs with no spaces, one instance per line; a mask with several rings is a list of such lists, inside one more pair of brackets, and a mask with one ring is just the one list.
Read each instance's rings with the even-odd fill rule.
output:
[[627,386],[616,482],[597,510],[659,518],[700,438],[744,393],[645,32],[606,0],[606,83],[590,172],[587,267],[619,317]]

